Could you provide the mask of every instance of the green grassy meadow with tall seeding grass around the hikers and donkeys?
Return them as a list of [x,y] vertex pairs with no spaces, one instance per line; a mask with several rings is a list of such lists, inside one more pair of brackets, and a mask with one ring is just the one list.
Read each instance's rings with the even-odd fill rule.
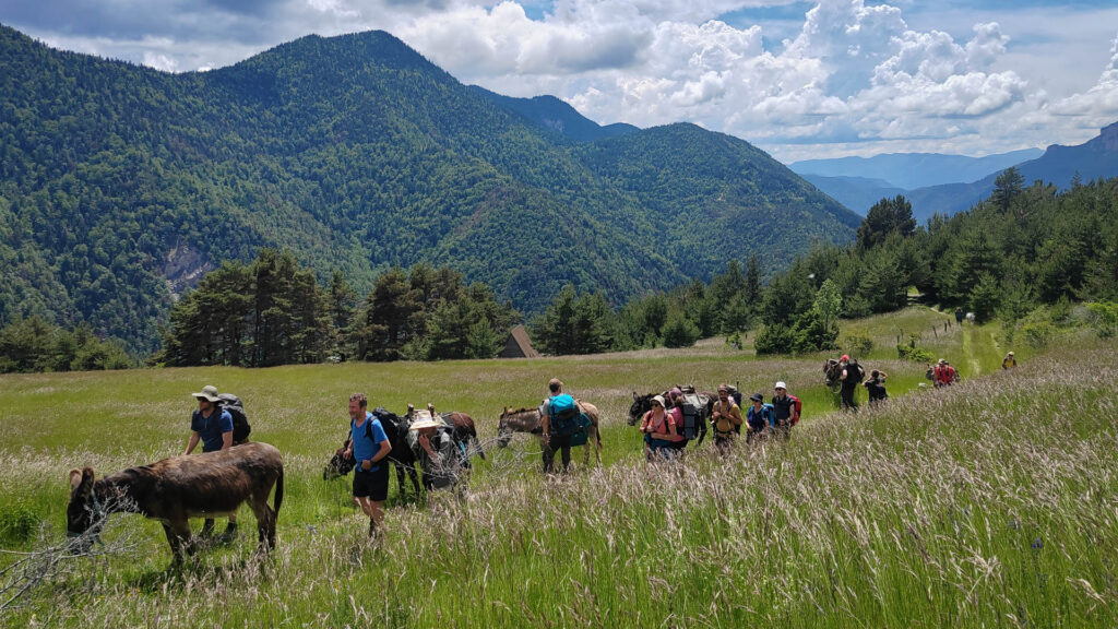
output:
[[[1069,336],[997,369],[993,327],[944,330],[925,308],[844,323],[878,346],[892,400],[834,411],[822,356],[757,360],[719,341],[685,350],[437,364],[245,370],[143,369],[0,377],[0,547],[29,552],[65,529],[66,472],[111,472],[181,453],[190,393],[237,393],[253,439],[278,447],[278,547],[255,535],[170,569],[158,523],[119,515],[106,544],[67,561],[0,612],[12,627],[1110,627],[1118,625],[1118,345]],[[932,327],[937,332],[931,332]],[[960,367],[919,387],[896,337]],[[1017,351],[1018,355],[1022,351]],[[548,378],[603,411],[601,467],[547,479],[537,442],[492,444],[504,405]],[[788,382],[805,420],[788,443],[703,444],[650,464],[625,424],[632,393]],[[489,459],[464,490],[401,500],[392,479],[373,545],[349,479],[322,466],[353,391],[472,414]],[[861,393],[864,400],[864,392]],[[743,444],[742,444],[743,445]],[[243,529],[253,517],[243,510]],[[30,525],[36,526],[30,526]],[[197,525],[196,525],[197,526]],[[29,531],[30,529],[30,531]],[[252,537],[252,538],[249,538]],[[20,555],[0,554],[0,569]],[[0,586],[9,583],[0,581]],[[0,600],[3,603],[7,598]]]

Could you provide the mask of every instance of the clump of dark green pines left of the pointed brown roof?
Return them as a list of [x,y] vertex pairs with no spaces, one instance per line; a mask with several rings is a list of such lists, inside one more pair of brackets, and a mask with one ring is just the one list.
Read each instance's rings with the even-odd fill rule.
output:
[[171,308],[167,366],[492,358],[520,314],[449,267],[385,272],[359,299],[340,271],[320,284],[290,252],[226,262]]

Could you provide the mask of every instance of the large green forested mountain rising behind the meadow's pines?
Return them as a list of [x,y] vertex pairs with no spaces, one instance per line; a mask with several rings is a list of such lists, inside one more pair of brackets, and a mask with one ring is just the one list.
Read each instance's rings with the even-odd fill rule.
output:
[[151,350],[176,293],[262,247],[361,293],[427,262],[529,312],[568,282],[618,303],[858,222],[745,141],[571,142],[386,32],[170,75],[0,27],[0,325]]

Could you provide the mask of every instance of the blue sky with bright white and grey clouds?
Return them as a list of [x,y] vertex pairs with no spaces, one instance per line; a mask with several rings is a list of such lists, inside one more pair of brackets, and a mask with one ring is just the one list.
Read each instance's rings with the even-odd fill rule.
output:
[[0,0],[48,45],[168,72],[371,29],[601,124],[693,122],[790,163],[1079,144],[1118,122],[1118,2]]

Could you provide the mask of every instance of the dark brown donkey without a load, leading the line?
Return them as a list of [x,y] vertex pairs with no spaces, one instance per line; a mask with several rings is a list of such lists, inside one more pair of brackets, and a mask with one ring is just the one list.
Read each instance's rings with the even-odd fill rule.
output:
[[[283,456],[267,443],[257,441],[217,452],[171,457],[100,480],[94,479],[93,468],[73,469],[69,481],[66,534],[79,538],[79,552],[89,550],[108,514],[132,513],[163,524],[173,561],[179,564],[197,546],[189,518],[227,516],[246,501],[256,516],[259,548],[268,551],[276,543],[276,517],[283,503]],[[275,503],[268,507],[273,486]]]

